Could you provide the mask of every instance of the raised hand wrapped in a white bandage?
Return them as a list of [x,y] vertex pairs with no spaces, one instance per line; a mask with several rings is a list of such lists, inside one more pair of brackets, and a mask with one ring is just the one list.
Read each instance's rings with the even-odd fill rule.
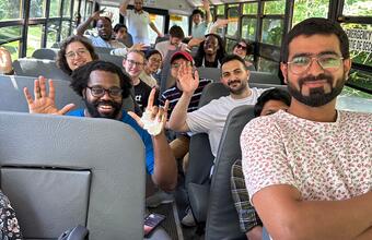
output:
[[128,112],[128,115],[132,117],[142,129],[147,130],[151,135],[159,135],[164,131],[167,119],[167,109],[170,106],[168,100],[165,101],[164,107],[153,106],[155,92],[156,89],[152,88],[148,100],[148,107],[146,108],[142,118],[132,111]]

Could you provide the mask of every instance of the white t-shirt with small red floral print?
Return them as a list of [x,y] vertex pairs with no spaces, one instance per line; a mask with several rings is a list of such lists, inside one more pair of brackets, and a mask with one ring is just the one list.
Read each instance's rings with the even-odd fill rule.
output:
[[289,184],[307,201],[336,201],[372,191],[372,115],[338,111],[314,122],[286,111],[252,120],[241,135],[249,197]]

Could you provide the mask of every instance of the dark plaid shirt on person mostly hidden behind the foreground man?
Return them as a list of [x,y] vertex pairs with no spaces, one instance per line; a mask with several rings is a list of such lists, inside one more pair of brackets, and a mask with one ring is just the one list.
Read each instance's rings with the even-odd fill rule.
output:
[[239,215],[241,230],[247,232],[256,226],[263,226],[257,212],[251,205],[242,170],[242,160],[240,159],[231,168],[231,193]]

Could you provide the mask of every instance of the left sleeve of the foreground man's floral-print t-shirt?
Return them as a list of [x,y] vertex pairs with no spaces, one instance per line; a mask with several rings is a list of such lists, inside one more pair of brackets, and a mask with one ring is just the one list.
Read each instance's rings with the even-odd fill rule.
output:
[[254,194],[266,187],[297,187],[280,129],[271,117],[252,120],[241,135],[243,171],[251,202]]

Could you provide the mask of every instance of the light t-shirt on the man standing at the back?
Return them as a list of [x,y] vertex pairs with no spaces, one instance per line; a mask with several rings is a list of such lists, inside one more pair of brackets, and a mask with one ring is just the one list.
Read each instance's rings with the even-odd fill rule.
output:
[[151,23],[149,13],[135,13],[135,10],[127,10],[126,15],[128,32],[133,38],[133,44],[142,43],[150,46],[148,25]]

